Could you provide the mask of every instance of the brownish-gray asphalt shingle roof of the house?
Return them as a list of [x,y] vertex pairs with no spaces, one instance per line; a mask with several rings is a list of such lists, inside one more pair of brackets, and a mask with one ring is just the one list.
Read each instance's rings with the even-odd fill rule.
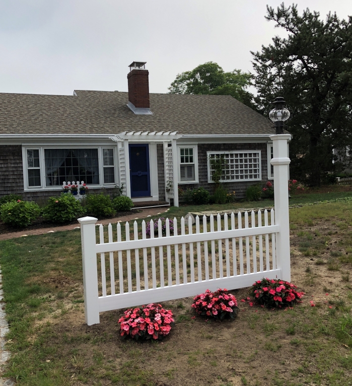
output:
[[230,95],[150,94],[153,115],[134,115],[128,93],[77,90],[77,96],[0,93],[1,134],[273,134],[268,119]]

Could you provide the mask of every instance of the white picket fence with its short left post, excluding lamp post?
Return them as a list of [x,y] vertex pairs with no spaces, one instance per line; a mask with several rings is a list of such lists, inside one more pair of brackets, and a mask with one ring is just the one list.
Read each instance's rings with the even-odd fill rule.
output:
[[[159,219],[158,237],[153,231],[147,235],[145,221],[142,229],[134,222],[132,234],[128,222],[124,227],[118,223],[114,232],[109,224],[107,235],[100,225],[99,244],[95,240],[97,220],[86,217],[79,221],[89,325],[99,323],[102,311],[194,296],[208,288],[246,287],[264,276],[280,277],[274,210],[218,215],[217,224],[213,215],[209,223],[205,216],[202,222],[197,216],[193,227],[189,218],[187,229],[183,218],[180,228],[176,218],[166,219],[164,235]],[[150,229],[154,229],[153,220]]]

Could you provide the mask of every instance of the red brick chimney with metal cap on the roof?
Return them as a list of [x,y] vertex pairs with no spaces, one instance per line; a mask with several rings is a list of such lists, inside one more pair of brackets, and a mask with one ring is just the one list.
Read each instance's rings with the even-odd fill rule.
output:
[[149,105],[149,71],[147,62],[132,62],[129,65],[128,107],[136,115],[151,115]]

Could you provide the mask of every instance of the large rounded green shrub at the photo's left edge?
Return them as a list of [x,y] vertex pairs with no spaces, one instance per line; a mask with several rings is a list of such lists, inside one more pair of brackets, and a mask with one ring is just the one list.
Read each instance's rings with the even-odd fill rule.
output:
[[10,201],[0,207],[1,219],[13,227],[27,227],[40,215],[40,208],[30,201]]

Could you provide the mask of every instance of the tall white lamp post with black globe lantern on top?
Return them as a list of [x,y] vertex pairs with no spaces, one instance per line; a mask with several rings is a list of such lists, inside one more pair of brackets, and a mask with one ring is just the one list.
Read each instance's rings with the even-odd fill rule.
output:
[[275,124],[275,134],[270,136],[273,145],[275,224],[280,226],[276,233],[276,266],[280,269],[281,280],[291,280],[290,266],[290,224],[289,224],[289,164],[287,144],[291,134],[284,134],[284,122],[290,118],[284,98],[279,96],[273,102],[269,118]]

